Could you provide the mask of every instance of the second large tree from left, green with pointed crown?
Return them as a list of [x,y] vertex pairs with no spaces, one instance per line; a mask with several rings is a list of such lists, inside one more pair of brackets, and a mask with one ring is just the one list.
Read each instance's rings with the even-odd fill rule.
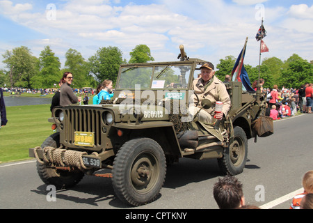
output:
[[39,73],[32,78],[33,86],[37,89],[51,88],[57,84],[62,75],[60,72],[61,63],[57,56],[54,56],[49,46],[46,46],[40,53],[39,57]]

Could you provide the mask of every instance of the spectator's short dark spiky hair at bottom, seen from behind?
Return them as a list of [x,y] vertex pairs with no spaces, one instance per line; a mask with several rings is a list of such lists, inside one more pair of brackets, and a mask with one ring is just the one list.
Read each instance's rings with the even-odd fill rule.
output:
[[243,197],[242,184],[234,176],[218,178],[213,187],[213,195],[220,209],[239,208]]

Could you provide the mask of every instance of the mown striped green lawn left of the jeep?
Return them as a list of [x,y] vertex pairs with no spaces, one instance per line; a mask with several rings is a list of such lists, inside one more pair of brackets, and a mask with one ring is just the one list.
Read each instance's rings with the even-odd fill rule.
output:
[[0,129],[0,162],[29,159],[29,148],[40,146],[50,134],[50,105],[6,107],[8,123]]

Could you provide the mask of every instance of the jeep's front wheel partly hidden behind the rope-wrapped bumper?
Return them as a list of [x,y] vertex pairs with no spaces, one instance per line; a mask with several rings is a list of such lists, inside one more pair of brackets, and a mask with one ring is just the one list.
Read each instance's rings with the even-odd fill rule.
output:
[[[41,148],[45,148],[46,146],[58,148],[60,146],[59,141],[60,134],[59,132],[56,132],[47,137],[47,139],[42,143]],[[77,183],[79,183],[84,176],[82,171],[65,171],[55,169],[51,168],[49,164],[40,164],[40,162],[37,162],[37,171],[40,179],[46,185],[54,185],[56,190],[73,187],[74,185],[77,185]]]

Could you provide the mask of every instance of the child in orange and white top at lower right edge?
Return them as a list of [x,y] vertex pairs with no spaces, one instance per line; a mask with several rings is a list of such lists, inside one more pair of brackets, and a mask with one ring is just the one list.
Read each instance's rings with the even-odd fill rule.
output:
[[289,209],[300,209],[300,202],[305,197],[305,194],[313,193],[313,170],[307,171],[303,176],[302,185],[304,192],[297,194],[294,199],[292,199],[291,206]]

